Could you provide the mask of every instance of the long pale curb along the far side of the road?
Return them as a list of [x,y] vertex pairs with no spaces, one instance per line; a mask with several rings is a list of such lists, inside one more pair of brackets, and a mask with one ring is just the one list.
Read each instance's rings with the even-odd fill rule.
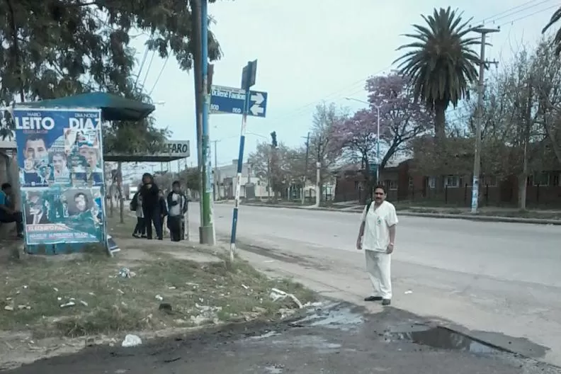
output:
[[[335,208],[304,208],[301,206],[293,205],[264,205],[264,204],[244,204],[248,206],[265,207],[265,208],[288,208],[288,209],[303,209],[303,210],[322,210],[329,212],[341,213],[360,213],[361,210],[341,210]],[[495,215],[463,215],[463,214],[446,214],[446,213],[416,213],[407,211],[397,211],[399,215],[409,217],[426,217],[426,218],[441,218],[448,220],[467,220],[467,221],[480,221],[480,222],[505,222],[505,223],[530,223],[533,225],[559,225],[561,220],[547,220],[542,218],[519,218],[519,217],[499,217]]]

